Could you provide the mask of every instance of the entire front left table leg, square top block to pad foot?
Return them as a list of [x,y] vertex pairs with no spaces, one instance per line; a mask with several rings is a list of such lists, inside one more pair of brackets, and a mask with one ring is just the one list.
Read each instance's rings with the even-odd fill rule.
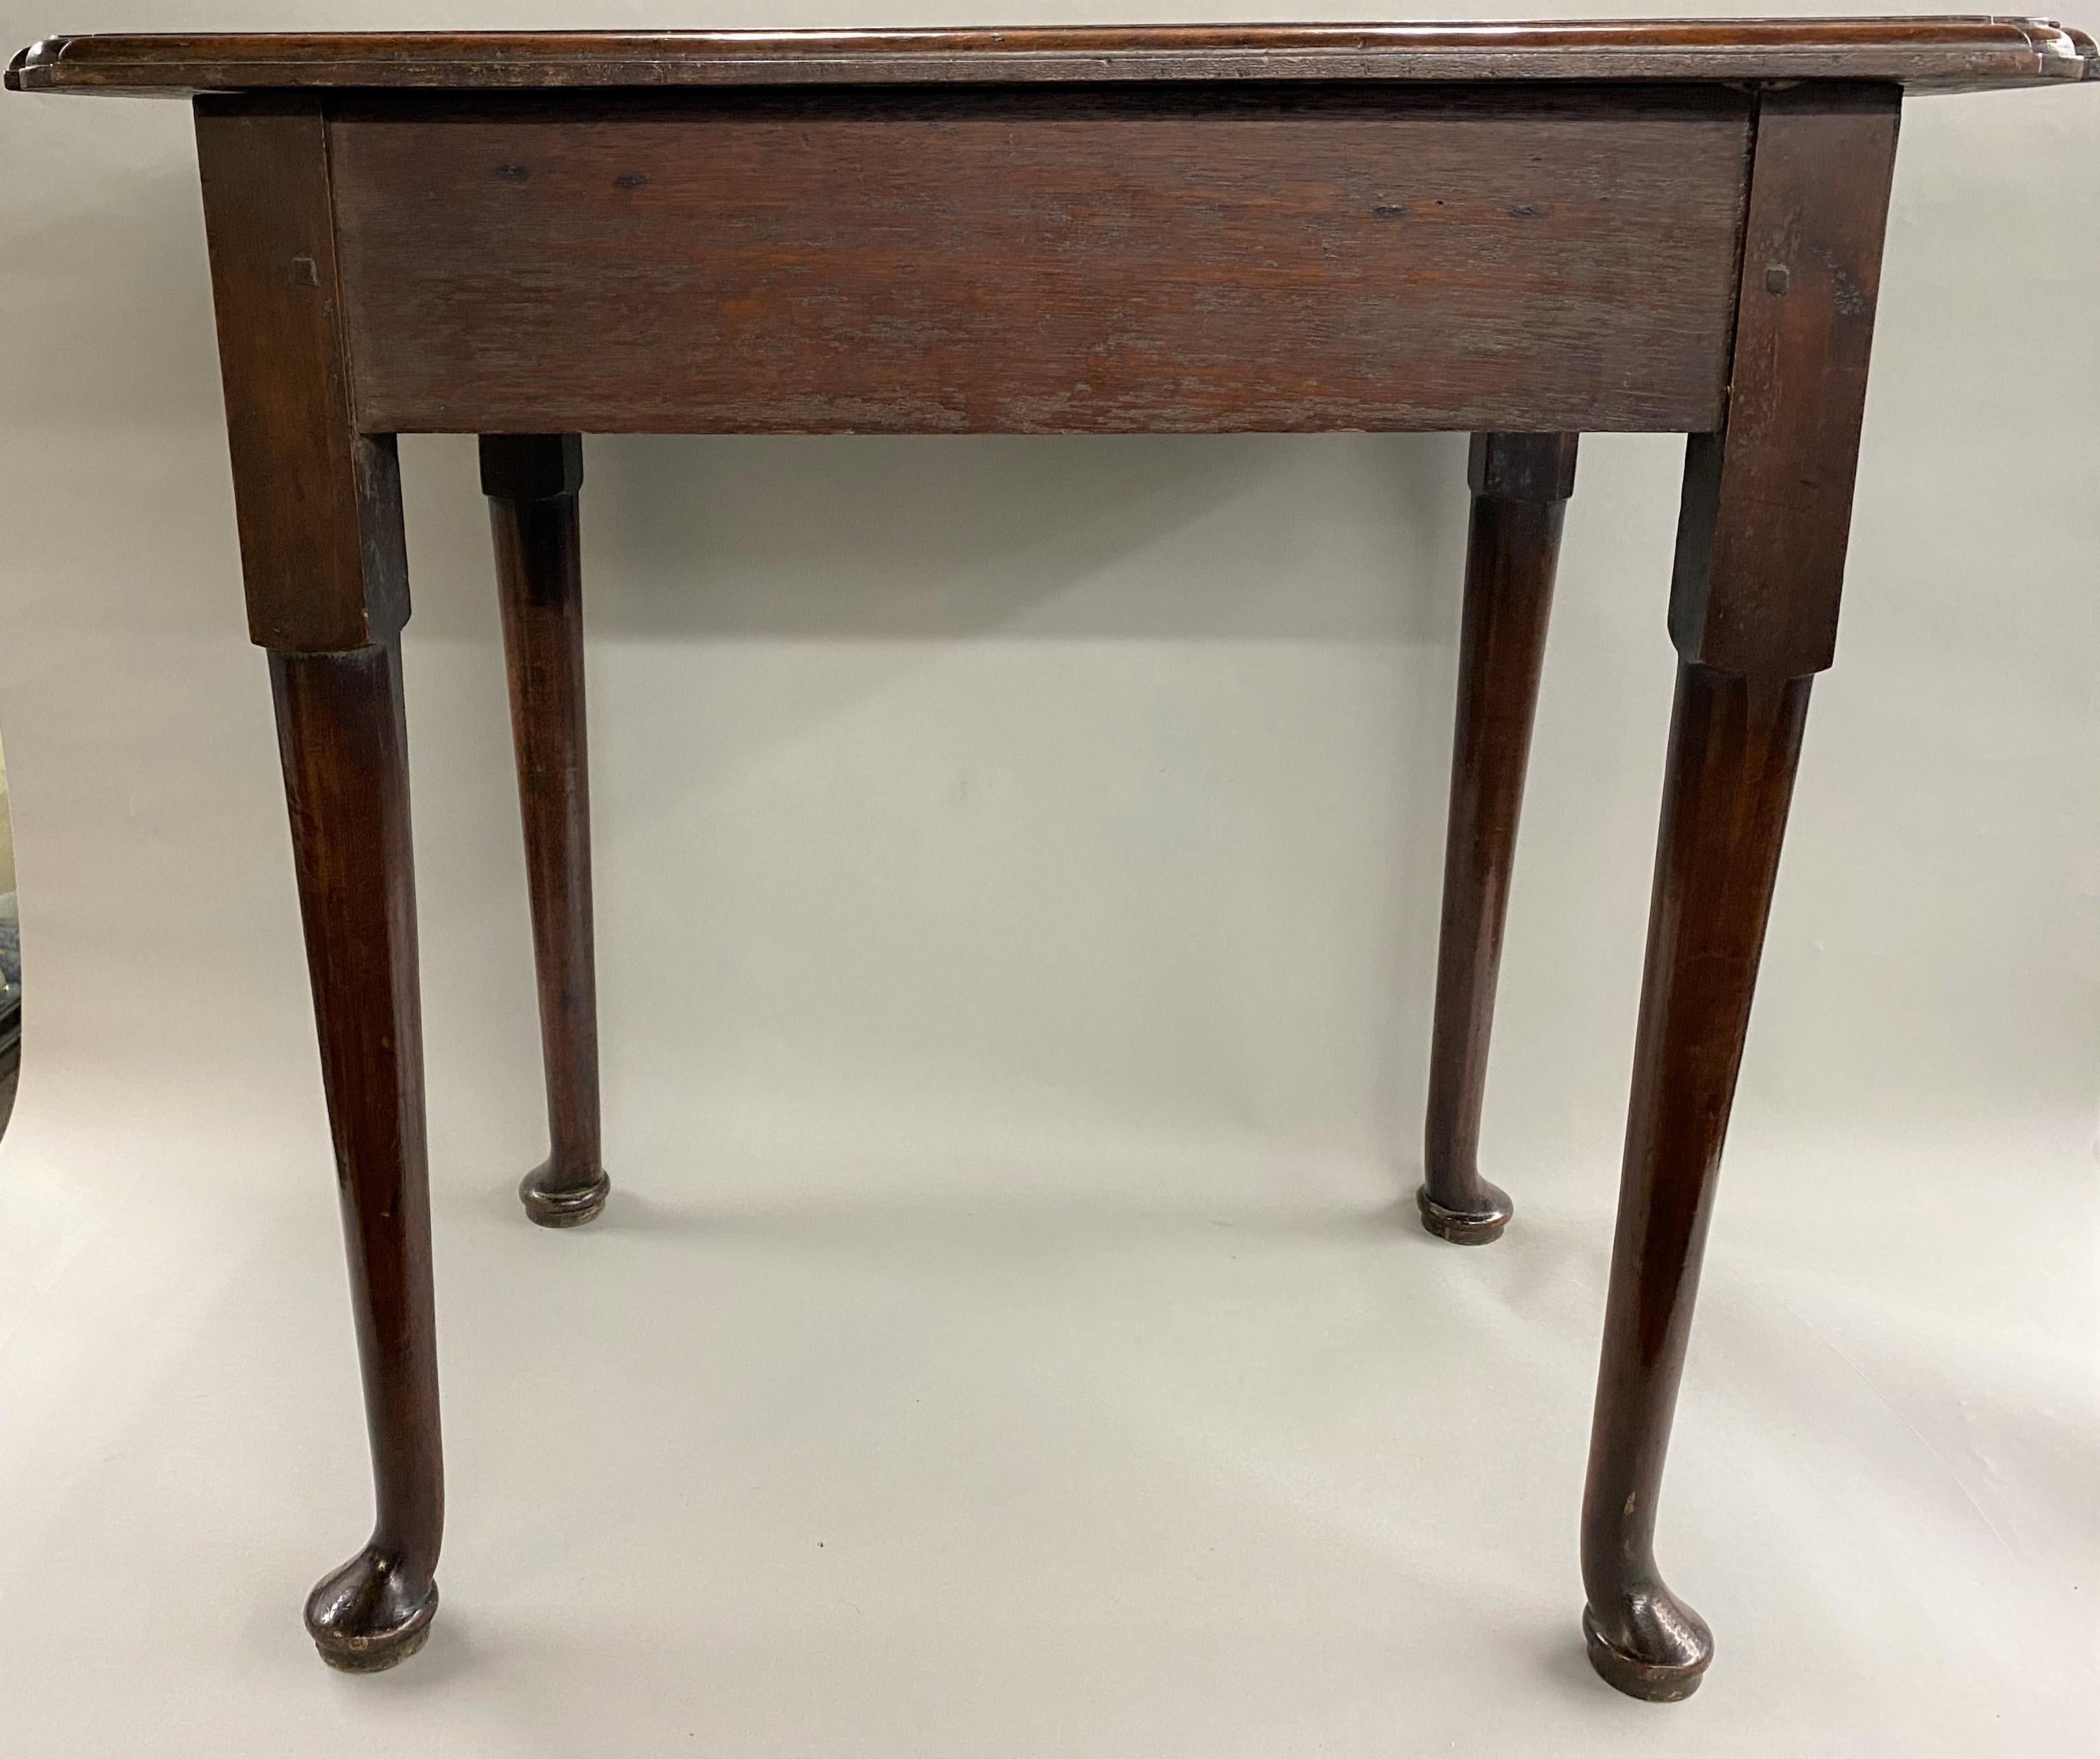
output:
[[248,628],[277,699],[378,1501],[307,1629],[323,1660],[372,1671],[422,1646],[445,1524],[401,483],[393,437],[351,414],[321,97],[200,97],[195,115]]

